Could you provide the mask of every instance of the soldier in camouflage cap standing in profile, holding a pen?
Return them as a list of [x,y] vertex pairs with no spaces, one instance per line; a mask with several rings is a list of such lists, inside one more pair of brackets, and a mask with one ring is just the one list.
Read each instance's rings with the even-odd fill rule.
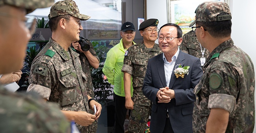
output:
[[[68,120],[74,120],[80,132],[86,133],[102,107],[87,95],[87,78],[79,54],[70,44],[79,40],[83,29],[80,20],[90,17],[80,14],[74,1],[64,0],[51,7],[48,18],[52,37],[32,63],[27,91],[39,92],[46,100],[58,103]],[[96,114],[87,113],[94,105]]]

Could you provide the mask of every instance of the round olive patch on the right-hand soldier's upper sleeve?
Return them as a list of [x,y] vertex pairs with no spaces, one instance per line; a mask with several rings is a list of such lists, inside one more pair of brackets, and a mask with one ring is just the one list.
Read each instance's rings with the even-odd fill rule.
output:
[[211,74],[209,79],[209,85],[211,89],[218,89],[221,86],[222,82],[222,78],[219,74]]

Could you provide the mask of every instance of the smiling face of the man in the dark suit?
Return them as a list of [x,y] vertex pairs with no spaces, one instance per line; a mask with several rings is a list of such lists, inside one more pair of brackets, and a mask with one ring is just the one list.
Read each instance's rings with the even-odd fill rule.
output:
[[[177,52],[178,46],[180,46],[182,42],[182,38],[174,38],[177,36],[177,28],[174,26],[165,26],[159,31],[159,37],[163,39],[158,39],[158,44],[165,55],[174,55]],[[166,39],[168,37],[172,37],[171,41],[169,42]]]

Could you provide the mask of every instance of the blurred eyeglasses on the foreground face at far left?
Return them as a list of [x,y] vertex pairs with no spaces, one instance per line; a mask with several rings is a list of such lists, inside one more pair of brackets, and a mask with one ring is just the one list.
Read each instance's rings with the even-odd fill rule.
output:
[[[13,18],[19,18],[18,16],[11,15],[8,13],[1,12],[0,15],[5,16],[5,17],[13,17]],[[36,18],[35,16],[26,16],[24,20],[26,27],[30,31],[30,34],[32,35],[35,32],[35,24],[36,24]]]

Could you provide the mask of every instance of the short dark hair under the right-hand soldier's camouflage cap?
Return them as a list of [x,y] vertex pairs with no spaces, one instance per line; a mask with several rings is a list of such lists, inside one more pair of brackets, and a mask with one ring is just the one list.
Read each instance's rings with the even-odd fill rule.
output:
[[215,22],[197,22],[197,26],[202,26],[209,34],[215,38],[228,37],[231,35],[231,20]]

